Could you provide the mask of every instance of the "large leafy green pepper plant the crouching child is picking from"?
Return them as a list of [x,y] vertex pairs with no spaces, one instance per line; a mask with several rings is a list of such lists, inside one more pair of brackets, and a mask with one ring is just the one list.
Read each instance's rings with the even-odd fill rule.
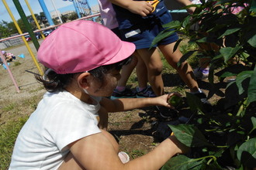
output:
[[[220,96],[207,112],[202,102],[186,93],[192,120],[169,125],[188,155],[171,158],[162,169],[253,169],[256,167],[256,2],[255,0],[200,0],[195,12],[167,28],[152,43],[179,32],[175,44],[196,44],[179,63],[192,55],[209,59],[208,97]],[[233,14],[237,8],[243,10]],[[197,29],[192,29],[194,27]],[[230,64],[230,60],[236,64]],[[228,77],[234,81],[227,82]],[[224,88],[224,90],[222,90]],[[223,92],[224,91],[224,92]]]

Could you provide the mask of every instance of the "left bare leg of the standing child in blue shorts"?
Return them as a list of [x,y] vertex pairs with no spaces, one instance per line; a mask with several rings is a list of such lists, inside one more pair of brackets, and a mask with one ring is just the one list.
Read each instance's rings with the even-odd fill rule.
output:
[[163,64],[161,61],[160,53],[156,48],[153,49],[137,49],[141,59],[147,66],[147,79],[157,96],[164,93],[164,83],[162,80],[161,72]]

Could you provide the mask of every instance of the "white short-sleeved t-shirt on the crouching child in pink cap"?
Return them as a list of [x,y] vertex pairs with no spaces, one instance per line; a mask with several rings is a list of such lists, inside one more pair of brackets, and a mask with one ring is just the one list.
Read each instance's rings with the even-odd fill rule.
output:
[[57,169],[67,145],[99,133],[99,100],[85,104],[67,91],[45,93],[16,139],[9,169]]

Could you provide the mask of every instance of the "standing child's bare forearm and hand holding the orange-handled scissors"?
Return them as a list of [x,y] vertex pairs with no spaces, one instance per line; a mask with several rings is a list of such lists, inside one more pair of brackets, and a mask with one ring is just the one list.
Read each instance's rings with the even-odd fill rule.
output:
[[147,16],[153,10],[153,6],[146,1],[109,0],[109,2],[141,16]]

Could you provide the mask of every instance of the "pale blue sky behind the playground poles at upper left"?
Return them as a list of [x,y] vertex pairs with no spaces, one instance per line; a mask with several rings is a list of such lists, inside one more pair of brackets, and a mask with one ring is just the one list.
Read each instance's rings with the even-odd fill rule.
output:
[[[7,5],[9,6],[12,15],[16,19],[20,19],[19,12],[16,9],[16,6],[12,2],[12,0],[5,0]],[[32,11],[34,14],[40,14],[40,12],[43,12],[43,9],[40,6],[40,3],[38,0],[27,0],[29,2],[30,7],[32,8]],[[63,1],[63,0],[44,0],[45,5],[47,6],[47,9],[49,12],[54,11],[54,5],[59,10],[60,12],[67,12],[67,11],[75,11],[74,10],[74,5],[73,2]],[[26,2],[24,0],[19,0],[19,3],[22,5],[22,9],[25,12],[26,15],[31,15],[29,12],[29,8],[26,5]],[[88,5],[94,6],[98,5],[97,0],[88,0]],[[12,22],[12,18],[10,17],[8,11],[5,8],[4,3],[0,0],[0,22],[5,21],[5,22]]]

